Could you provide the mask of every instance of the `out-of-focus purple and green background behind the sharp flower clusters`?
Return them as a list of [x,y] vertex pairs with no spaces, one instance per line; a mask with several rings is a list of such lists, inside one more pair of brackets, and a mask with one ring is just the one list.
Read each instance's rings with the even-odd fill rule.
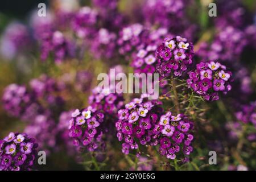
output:
[[[40,2],[47,5],[47,18],[51,17],[49,24],[67,40],[64,47],[53,48],[48,55],[44,53],[51,45],[43,47],[40,39],[46,31],[46,27],[40,27],[40,24],[45,22],[36,19]],[[234,75],[233,90],[221,100],[203,105],[209,109],[196,121],[197,139],[191,162],[181,169],[255,170],[256,2],[214,1],[217,17],[208,16],[208,5],[213,1],[207,0],[170,1],[170,5],[169,1],[160,0],[120,0],[114,5],[112,2],[115,1],[102,1],[102,4],[89,0],[1,1],[0,96],[10,84],[23,85],[30,90],[34,81],[34,89],[42,92],[36,103],[46,108],[45,112],[53,112],[54,117],[51,118],[52,124],[46,123],[41,129],[41,124],[31,124],[30,119],[5,109],[1,101],[0,138],[10,131],[24,130],[32,130],[30,132],[34,131],[36,137],[43,138],[49,155],[47,165],[38,166],[38,169],[95,169],[95,161],[90,155],[78,154],[73,150],[72,142],[65,140],[67,136],[63,137],[60,115],[65,121],[63,111],[88,105],[88,97],[97,85],[99,73],[108,73],[112,67],[132,73],[134,68],[130,66],[131,60],[127,61],[127,57],[118,52],[119,47],[112,45],[112,41],[117,40],[110,39],[102,46],[97,44],[97,36],[85,41],[77,38],[77,32],[72,29],[73,17],[81,7],[90,6],[101,16],[102,22],[97,22],[97,26],[90,25],[95,31],[106,28],[118,36],[123,27],[133,23],[141,23],[153,30],[164,27],[171,35],[185,36],[193,42],[197,63],[218,60],[228,65]],[[164,8],[168,6],[170,10]],[[105,47],[108,50],[113,47],[113,55],[109,55]],[[45,90],[40,90],[40,86]],[[129,96],[125,97],[129,100]],[[32,109],[25,115],[28,116]],[[118,141],[112,141],[110,146],[107,152],[97,155],[100,169],[170,169],[165,162],[150,157],[140,159],[139,168],[134,167],[133,159],[122,154]],[[217,151],[217,165],[208,164],[210,150]]]

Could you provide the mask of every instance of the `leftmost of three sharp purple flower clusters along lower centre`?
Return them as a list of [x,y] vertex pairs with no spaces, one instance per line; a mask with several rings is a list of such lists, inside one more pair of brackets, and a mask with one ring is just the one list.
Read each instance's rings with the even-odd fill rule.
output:
[[69,122],[69,137],[73,138],[75,146],[86,147],[88,151],[94,151],[100,147],[104,150],[105,143],[102,140],[102,135],[105,132],[103,113],[93,110],[90,106],[87,109],[76,109]]

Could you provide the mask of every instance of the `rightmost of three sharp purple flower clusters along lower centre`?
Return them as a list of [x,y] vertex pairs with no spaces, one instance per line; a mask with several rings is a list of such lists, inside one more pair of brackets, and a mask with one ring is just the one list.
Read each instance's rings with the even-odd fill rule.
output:
[[193,140],[193,122],[184,114],[172,115],[167,112],[159,120],[161,155],[168,159],[175,159],[178,154],[189,155],[193,151],[191,142]]

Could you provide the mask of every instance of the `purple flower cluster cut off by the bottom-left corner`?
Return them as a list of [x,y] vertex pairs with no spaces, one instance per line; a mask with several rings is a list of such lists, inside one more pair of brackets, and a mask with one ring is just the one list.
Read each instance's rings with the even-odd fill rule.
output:
[[26,133],[10,133],[0,140],[0,171],[30,170],[37,155],[34,138]]

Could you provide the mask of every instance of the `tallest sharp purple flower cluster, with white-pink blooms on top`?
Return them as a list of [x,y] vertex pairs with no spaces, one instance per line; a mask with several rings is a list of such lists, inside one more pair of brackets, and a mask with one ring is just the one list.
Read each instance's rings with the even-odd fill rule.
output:
[[193,45],[187,39],[176,36],[166,38],[162,45],[156,49],[156,72],[162,77],[172,74],[181,76],[192,64]]

